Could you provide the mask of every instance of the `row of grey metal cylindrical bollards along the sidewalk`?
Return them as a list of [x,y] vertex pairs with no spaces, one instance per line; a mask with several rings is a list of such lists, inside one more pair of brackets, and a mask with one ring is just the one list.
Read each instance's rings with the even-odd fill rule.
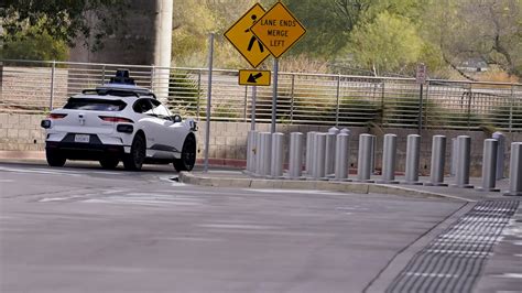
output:
[[[283,133],[250,131],[248,134],[247,171],[251,174],[283,178]],[[483,142],[482,183],[478,188],[486,192],[498,192],[497,180],[503,176],[499,171],[500,141],[487,139]],[[376,135],[359,135],[357,161],[357,182],[373,183],[371,175],[374,169]],[[503,143],[503,142],[502,142]],[[396,135],[385,134],[383,139],[382,174],[378,183],[398,184]],[[522,142],[511,144],[510,189],[507,195],[522,195]],[[404,184],[423,184],[418,181],[421,155],[421,137],[407,135]],[[454,187],[474,188],[470,176],[471,138],[459,135],[452,141],[452,173],[455,175]],[[351,181],[349,178],[350,132],[348,129],[331,129],[328,133],[308,132],[306,134],[306,152],[303,160],[303,133],[292,132],[290,135],[287,178]],[[434,135],[432,142],[431,173],[427,186],[448,186],[444,182],[446,159],[446,137]],[[303,172],[304,163],[304,172]]]

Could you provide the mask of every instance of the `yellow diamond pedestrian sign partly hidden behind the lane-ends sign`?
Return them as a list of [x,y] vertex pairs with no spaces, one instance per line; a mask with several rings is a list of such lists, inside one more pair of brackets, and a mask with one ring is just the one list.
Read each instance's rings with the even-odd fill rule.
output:
[[228,41],[232,43],[252,67],[258,67],[268,56],[270,56],[270,51],[268,51],[250,31],[252,24],[254,24],[263,14],[264,8],[259,3],[255,3],[225,33]]

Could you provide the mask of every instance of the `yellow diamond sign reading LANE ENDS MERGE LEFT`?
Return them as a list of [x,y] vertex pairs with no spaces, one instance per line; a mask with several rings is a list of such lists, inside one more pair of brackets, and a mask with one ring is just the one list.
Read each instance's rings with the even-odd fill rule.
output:
[[267,11],[250,30],[276,58],[306,33],[303,24],[281,2]]

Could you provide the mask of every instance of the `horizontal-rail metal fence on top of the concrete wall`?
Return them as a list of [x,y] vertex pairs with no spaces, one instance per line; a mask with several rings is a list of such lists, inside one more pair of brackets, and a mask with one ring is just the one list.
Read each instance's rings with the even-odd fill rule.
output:
[[[0,109],[41,113],[62,107],[81,89],[108,83],[127,68],[173,112],[206,119],[208,69],[118,64],[2,61]],[[522,84],[280,73],[278,123],[424,129],[522,130]],[[211,120],[250,121],[252,87],[238,85],[237,70],[213,72]],[[258,87],[255,116],[269,122],[272,87]]]

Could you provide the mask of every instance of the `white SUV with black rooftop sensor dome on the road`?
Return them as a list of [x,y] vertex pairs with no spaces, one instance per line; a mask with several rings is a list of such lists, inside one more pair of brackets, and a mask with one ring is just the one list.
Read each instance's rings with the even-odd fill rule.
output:
[[48,165],[90,160],[115,169],[123,161],[127,170],[173,163],[176,171],[191,171],[196,122],[171,115],[154,94],[133,84],[128,70],[118,70],[111,84],[83,90],[42,120]]

